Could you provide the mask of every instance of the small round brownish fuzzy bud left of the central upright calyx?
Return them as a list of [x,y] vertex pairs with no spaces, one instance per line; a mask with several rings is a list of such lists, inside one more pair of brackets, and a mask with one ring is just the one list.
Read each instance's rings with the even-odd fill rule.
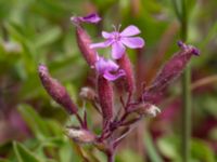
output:
[[79,96],[86,100],[94,100],[97,94],[95,94],[94,90],[86,86],[80,90]]

